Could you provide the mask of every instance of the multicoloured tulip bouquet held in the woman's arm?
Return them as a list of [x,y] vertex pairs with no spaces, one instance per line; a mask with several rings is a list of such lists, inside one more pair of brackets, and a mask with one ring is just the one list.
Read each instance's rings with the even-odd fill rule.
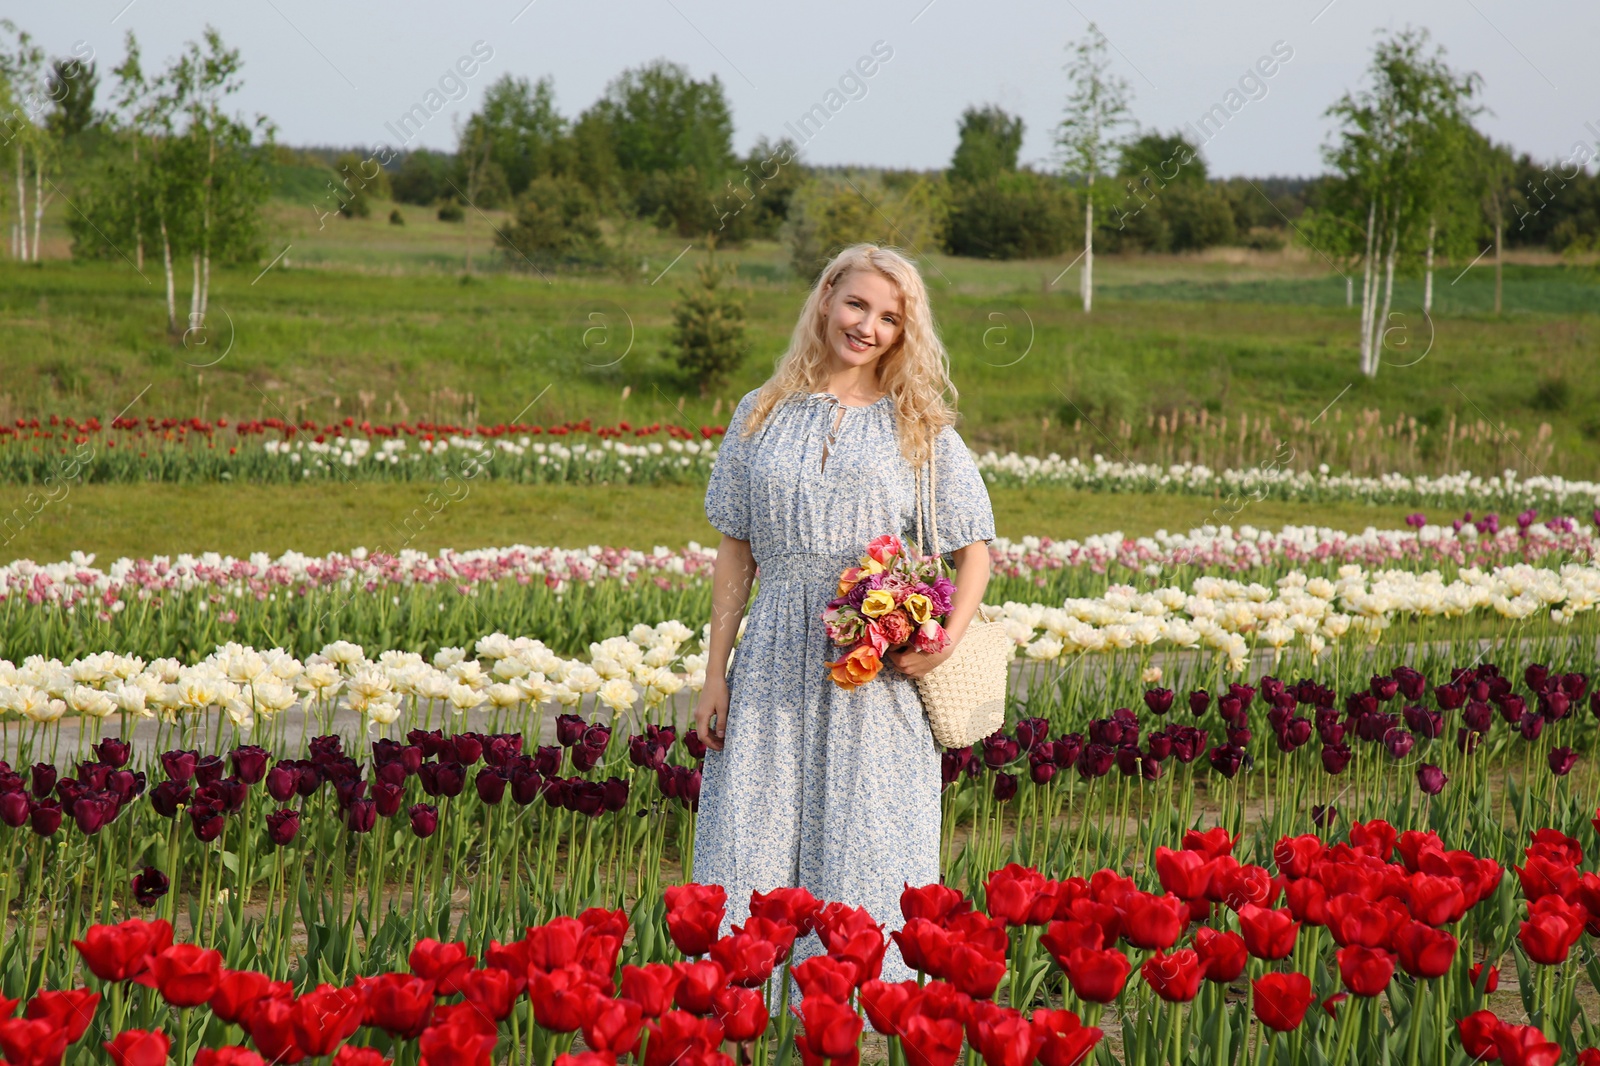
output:
[[867,544],[861,565],[838,578],[838,595],[822,611],[827,637],[845,653],[827,663],[840,688],[858,688],[878,675],[883,656],[907,645],[938,655],[950,645],[944,618],[955,584],[938,555],[920,555],[893,535]]

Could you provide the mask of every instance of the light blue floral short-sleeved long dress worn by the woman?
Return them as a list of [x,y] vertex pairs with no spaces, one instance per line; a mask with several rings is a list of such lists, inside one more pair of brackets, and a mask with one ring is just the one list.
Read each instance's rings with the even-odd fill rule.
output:
[[[749,917],[752,890],[787,885],[898,930],[904,885],[939,880],[939,747],[915,682],[893,664],[854,690],[829,680],[840,650],[821,616],[867,541],[915,539],[920,471],[901,455],[888,395],[866,407],[790,395],[744,439],[755,395],[728,419],[706,490],[710,523],[750,543],[757,591],[728,674],[723,751],[706,754],[694,880],[728,890],[723,932]],[[954,427],[936,461],[939,547],[994,539],[989,490]],[[818,951],[806,936],[795,962]],[[910,976],[891,941],[883,980]]]

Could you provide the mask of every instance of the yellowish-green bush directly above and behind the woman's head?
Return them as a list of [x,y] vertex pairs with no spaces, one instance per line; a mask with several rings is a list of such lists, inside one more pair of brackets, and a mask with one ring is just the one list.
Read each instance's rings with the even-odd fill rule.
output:
[[789,261],[811,282],[834,253],[862,240],[918,254],[939,243],[947,213],[942,181],[827,174],[795,192],[784,227]]

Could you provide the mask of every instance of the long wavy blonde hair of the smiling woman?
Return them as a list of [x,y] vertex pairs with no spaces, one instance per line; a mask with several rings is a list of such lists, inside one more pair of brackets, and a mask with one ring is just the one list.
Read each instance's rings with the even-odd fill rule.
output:
[[894,399],[901,455],[912,466],[928,458],[928,443],[946,426],[955,424],[958,392],[950,381],[950,355],[939,341],[928,303],[928,287],[915,264],[898,248],[859,243],[840,251],[818,275],[800,309],[789,351],[762,384],[755,407],[744,423],[744,437],[754,434],[773,408],[792,395],[810,395],[827,387],[826,304],[840,280],[853,271],[877,271],[894,287],[902,303],[901,335],[877,362],[878,384]]

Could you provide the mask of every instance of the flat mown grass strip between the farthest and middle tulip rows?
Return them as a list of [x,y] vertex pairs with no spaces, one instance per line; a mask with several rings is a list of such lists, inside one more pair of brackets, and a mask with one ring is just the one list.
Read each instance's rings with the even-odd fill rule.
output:
[[[275,555],[365,546],[432,552],[518,543],[650,549],[715,544],[720,538],[706,522],[704,490],[693,487],[485,482],[469,488],[461,499],[446,503],[421,485],[78,485],[38,511],[10,541],[0,539],[0,560],[54,562],[74,551],[94,552],[104,563],[118,555],[202,551]],[[19,506],[22,491],[0,487],[0,514]],[[994,488],[990,499],[997,531],[1013,539],[1181,531],[1230,514],[1221,501],[1194,496]],[[1232,515],[1232,525],[1397,528],[1403,517],[1402,507],[1264,501]]]

